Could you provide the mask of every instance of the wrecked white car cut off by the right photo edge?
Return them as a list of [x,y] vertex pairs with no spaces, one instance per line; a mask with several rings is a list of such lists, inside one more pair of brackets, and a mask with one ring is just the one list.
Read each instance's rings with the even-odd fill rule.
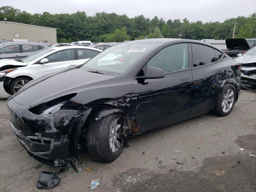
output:
[[241,64],[241,86],[249,90],[256,90],[256,47],[235,58]]

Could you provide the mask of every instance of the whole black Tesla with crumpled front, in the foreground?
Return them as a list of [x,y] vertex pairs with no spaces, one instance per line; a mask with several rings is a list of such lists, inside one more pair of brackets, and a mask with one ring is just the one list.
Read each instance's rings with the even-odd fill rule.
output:
[[112,162],[130,136],[208,112],[226,116],[239,92],[240,64],[222,50],[161,38],[124,42],[33,80],[7,106],[28,153],[64,166],[85,149]]

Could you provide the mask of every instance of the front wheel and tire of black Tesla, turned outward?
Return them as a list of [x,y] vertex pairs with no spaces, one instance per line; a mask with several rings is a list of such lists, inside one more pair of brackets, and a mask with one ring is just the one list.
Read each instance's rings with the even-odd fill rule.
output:
[[86,147],[92,159],[98,162],[112,162],[124,148],[123,118],[112,114],[91,122],[86,131]]

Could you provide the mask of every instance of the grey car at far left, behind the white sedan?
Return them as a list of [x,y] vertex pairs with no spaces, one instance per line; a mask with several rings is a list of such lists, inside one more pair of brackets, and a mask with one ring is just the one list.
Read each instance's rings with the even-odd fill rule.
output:
[[0,59],[22,59],[50,44],[36,42],[5,42],[0,44]]

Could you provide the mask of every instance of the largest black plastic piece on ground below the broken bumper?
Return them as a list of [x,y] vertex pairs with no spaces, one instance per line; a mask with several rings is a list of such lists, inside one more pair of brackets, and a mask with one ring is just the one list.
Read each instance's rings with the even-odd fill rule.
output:
[[57,186],[59,182],[60,178],[58,178],[56,175],[50,172],[42,171],[40,172],[36,187],[38,189],[51,189]]

